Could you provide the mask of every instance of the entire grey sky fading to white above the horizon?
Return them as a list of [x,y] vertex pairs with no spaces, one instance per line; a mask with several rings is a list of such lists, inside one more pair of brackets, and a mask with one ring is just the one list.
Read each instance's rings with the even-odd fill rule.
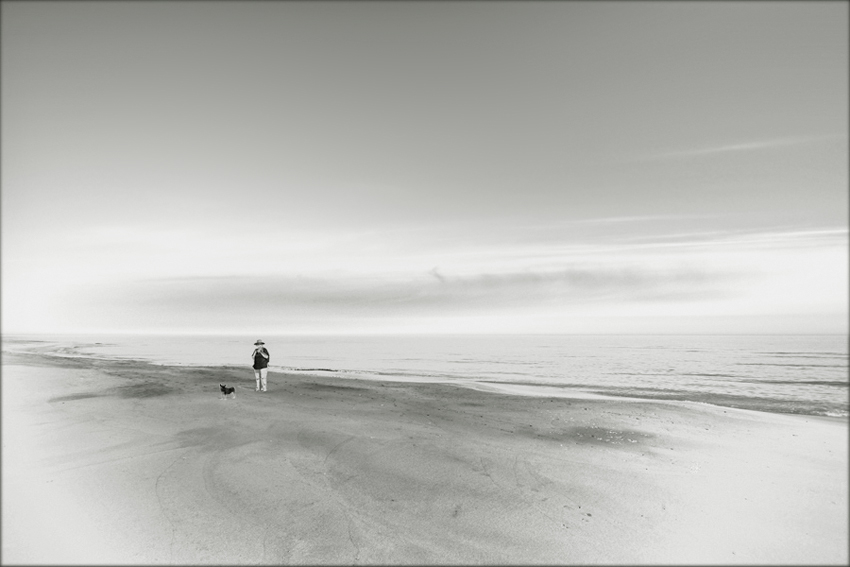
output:
[[3,333],[847,333],[846,2],[0,11]]

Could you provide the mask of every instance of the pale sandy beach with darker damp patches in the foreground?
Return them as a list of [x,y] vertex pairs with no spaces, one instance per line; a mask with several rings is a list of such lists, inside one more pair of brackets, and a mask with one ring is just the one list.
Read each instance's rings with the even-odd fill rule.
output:
[[3,362],[4,564],[848,562],[845,420]]

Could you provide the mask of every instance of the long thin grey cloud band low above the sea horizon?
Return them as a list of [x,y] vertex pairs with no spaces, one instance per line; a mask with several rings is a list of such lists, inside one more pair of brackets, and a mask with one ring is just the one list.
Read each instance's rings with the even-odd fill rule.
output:
[[122,290],[144,308],[198,313],[274,311],[387,315],[447,310],[498,310],[535,304],[681,300],[717,296],[733,274],[694,269],[581,267],[551,272],[441,275],[434,270],[404,279],[320,277],[181,278],[137,282]]

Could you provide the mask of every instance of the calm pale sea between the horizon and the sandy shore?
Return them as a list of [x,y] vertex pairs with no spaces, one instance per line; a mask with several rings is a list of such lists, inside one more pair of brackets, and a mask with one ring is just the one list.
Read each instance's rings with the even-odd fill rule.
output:
[[[498,382],[846,417],[846,335],[266,336],[271,371]],[[33,340],[42,342],[32,342]],[[4,336],[4,350],[245,366],[256,337]]]

